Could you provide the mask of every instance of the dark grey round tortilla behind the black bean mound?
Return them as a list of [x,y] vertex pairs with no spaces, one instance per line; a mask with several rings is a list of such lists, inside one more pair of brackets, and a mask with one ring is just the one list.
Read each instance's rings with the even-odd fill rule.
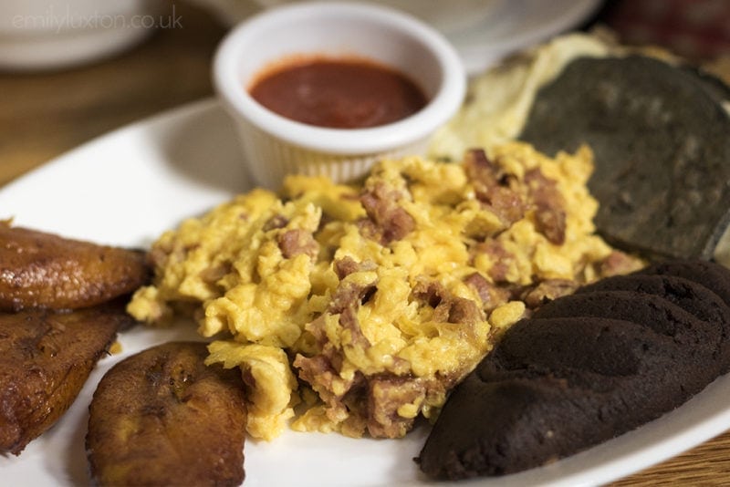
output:
[[539,90],[520,140],[589,144],[599,232],[649,257],[709,259],[730,222],[730,88],[650,57],[576,59]]

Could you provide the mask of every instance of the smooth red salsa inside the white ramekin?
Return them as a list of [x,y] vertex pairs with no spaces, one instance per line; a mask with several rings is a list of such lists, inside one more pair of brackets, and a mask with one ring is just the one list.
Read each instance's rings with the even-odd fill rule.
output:
[[287,119],[335,129],[385,125],[412,115],[427,101],[400,72],[360,59],[297,60],[266,70],[249,92]]

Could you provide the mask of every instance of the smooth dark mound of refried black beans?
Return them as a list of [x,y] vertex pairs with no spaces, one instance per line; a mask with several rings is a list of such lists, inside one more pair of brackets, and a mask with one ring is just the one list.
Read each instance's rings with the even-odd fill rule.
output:
[[677,408],[730,369],[730,307],[704,284],[728,280],[704,261],[655,264],[537,309],[454,388],[421,470],[450,480],[524,471]]

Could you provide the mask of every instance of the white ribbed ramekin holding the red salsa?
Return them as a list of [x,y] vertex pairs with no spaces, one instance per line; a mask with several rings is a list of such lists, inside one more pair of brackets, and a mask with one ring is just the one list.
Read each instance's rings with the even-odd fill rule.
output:
[[[247,88],[263,68],[298,55],[369,58],[412,78],[429,102],[406,119],[368,129],[286,119],[257,103]],[[364,4],[303,3],[253,16],[225,37],[213,70],[251,176],[271,189],[290,173],[350,181],[381,158],[421,154],[433,131],[459,109],[466,85],[459,56],[433,27]]]

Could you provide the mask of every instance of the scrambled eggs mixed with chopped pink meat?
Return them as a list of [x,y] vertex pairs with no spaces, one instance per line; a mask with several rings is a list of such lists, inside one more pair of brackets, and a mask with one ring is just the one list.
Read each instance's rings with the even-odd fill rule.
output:
[[291,176],[162,234],[129,311],[194,316],[208,363],[241,368],[255,438],[401,437],[531,307],[630,262],[594,234],[591,170],[588,149],[512,142],[353,185]]

